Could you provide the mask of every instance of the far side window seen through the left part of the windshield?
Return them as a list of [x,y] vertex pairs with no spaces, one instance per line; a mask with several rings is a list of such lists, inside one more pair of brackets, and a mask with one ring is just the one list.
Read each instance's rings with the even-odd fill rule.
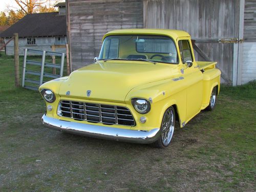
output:
[[104,54],[106,59],[109,58],[118,58],[118,49],[119,49],[119,39],[118,38],[110,38],[105,42],[105,50]]

